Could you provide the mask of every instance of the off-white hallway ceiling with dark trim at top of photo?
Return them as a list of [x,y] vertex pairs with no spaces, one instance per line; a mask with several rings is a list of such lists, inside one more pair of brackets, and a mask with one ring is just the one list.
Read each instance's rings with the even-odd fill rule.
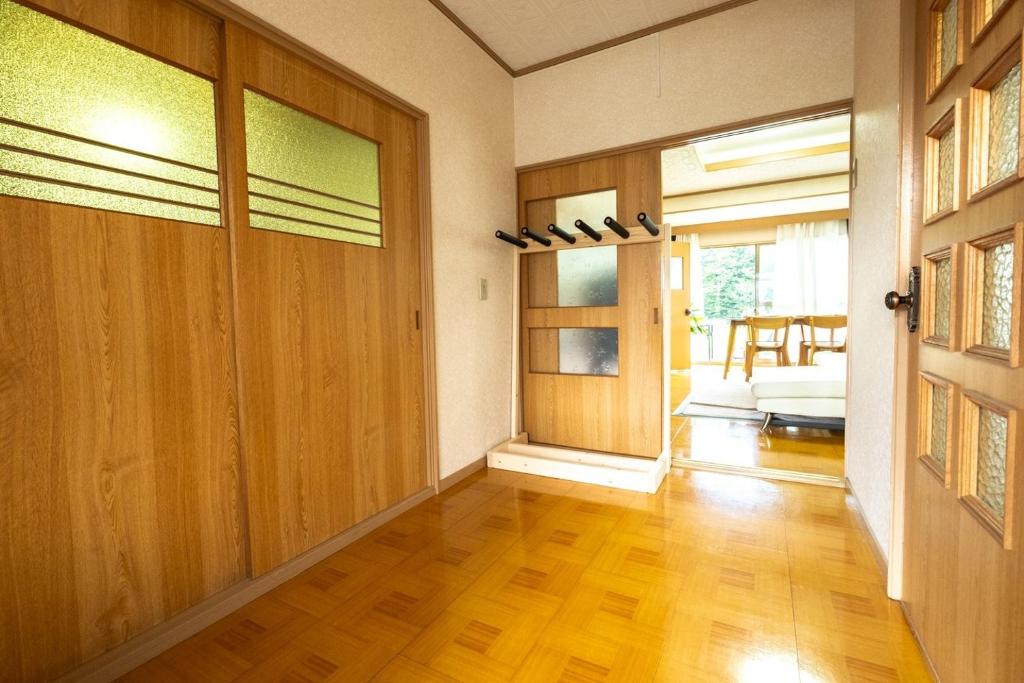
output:
[[442,0],[513,70],[728,0]]

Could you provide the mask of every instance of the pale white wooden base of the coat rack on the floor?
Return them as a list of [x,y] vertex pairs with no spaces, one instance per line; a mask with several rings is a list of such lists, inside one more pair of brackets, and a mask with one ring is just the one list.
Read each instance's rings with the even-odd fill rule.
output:
[[524,433],[487,452],[487,467],[525,474],[567,479],[599,486],[657,493],[669,473],[668,451],[657,458],[636,458],[529,443]]

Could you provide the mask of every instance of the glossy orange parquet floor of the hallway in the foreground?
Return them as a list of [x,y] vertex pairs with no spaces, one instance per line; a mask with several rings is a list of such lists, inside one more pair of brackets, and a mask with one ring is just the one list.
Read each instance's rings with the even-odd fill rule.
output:
[[926,681],[840,489],[488,470],[130,681]]

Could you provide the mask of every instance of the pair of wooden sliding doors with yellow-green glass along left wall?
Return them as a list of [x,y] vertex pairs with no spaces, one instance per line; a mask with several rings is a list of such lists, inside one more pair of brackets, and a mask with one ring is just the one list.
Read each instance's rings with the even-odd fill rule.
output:
[[433,481],[425,115],[274,40],[0,0],[0,679]]

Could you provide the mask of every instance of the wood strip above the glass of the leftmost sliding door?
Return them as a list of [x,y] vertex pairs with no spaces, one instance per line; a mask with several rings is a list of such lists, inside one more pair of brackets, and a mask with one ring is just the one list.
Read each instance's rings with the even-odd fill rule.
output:
[[24,4],[209,78],[220,75],[220,19],[191,5],[177,0],[28,0]]

